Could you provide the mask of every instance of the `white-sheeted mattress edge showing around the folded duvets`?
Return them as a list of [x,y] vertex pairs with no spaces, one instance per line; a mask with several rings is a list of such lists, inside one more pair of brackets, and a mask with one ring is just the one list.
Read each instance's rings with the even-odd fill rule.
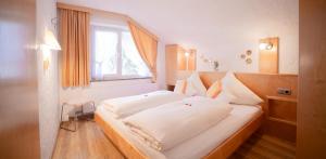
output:
[[140,151],[150,158],[198,159],[206,156],[246,123],[262,112],[260,106],[233,105],[233,107],[234,109],[231,110],[230,115],[214,127],[165,151],[158,151],[139,141],[138,137],[134,136],[129,132],[127,127],[125,127],[121,120],[115,119],[114,115],[103,108],[103,106],[98,106],[97,114],[108,124],[118,131],[123,137],[128,140],[134,146],[136,146]]

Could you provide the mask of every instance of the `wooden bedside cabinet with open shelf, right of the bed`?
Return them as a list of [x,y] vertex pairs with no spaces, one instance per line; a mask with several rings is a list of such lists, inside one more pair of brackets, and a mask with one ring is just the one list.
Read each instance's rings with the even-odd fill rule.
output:
[[297,137],[297,98],[266,96],[266,133],[289,142]]

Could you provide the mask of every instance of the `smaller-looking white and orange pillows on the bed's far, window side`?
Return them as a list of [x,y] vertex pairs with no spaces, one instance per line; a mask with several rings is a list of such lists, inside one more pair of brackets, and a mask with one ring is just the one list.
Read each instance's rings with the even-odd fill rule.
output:
[[177,80],[174,92],[183,93],[188,96],[205,96],[206,88],[203,85],[199,74],[193,72],[188,79],[186,80]]

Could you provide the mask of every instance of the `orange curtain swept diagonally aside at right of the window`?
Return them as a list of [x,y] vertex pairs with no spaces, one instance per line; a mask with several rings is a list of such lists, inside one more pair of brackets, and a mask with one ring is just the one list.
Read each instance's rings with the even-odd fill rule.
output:
[[148,68],[153,75],[152,81],[156,81],[156,55],[158,55],[158,40],[151,35],[139,28],[133,22],[128,21],[128,26],[133,35],[133,39],[137,50],[147,64]]

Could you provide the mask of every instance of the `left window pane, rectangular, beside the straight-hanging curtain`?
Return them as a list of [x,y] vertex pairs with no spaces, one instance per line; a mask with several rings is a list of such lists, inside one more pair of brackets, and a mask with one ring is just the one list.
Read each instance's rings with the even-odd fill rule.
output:
[[95,31],[95,63],[96,75],[117,74],[117,45],[118,35],[113,31]]

